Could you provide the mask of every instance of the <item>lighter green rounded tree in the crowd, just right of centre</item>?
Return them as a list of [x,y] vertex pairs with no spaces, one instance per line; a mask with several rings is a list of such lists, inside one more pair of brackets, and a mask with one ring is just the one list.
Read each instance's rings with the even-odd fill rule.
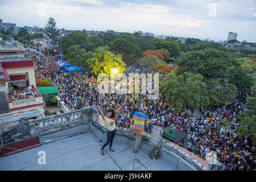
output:
[[185,72],[176,76],[174,72],[168,75],[168,81],[160,87],[160,93],[167,98],[172,108],[181,112],[185,107],[192,109],[209,104],[207,85],[204,77],[199,74]]

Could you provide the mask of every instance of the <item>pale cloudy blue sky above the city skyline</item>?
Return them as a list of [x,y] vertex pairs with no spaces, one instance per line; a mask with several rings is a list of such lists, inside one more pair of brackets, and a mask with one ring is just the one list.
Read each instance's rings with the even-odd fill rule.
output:
[[256,0],[0,0],[0,18],[44,27],[49,17],[67,30],[152,32],[155,35],[256,42]]

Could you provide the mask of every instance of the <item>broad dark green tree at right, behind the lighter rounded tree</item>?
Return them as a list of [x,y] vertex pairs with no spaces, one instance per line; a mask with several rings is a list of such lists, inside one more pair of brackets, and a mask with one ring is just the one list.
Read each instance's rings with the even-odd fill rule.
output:
[[[204,49],[186,52],[177,61],[178,73],[199,73],[205,78],[222,78],[235,84],[238,90],[250,89],[252,77],[242,69],[239,61],[233,59],[228,52],[217,49]],[[239,78],[239,79],[238,79]]]

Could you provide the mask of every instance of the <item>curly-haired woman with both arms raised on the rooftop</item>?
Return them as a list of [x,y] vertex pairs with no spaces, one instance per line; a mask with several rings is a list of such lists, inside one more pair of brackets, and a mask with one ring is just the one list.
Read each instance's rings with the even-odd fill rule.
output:
[[99,105],[97,105],[97,108],[100,111],[102,119],[104,120],[104,123],[106,125],[106,129],[108,130],[106,143],[104,143],[104,145],[101,147],[102,155],[105,155],[105,152],[103,150],[108,144],[109,144],[109,150],[114,152],[114,149],[112,148],[112,143],[113,143],[113,139],[115,137],[115,131],[116,131],[115,130],[115,115],[118,113],[119,110],[121,110],[123,105],[124,104],[122,103],[121,106],[119,106],[117,110],[109,109],[106,117],[102,113],[101,107]]

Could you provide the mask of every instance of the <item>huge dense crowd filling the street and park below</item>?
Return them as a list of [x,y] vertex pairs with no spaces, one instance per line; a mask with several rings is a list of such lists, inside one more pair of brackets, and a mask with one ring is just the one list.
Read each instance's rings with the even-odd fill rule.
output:
[[[47,56],[36,55],[32,51],[28,52],[28,56],[35,61],[38,75],[51,78],[52,84],[59,88],[59,97],[69,110],[101,105],[102,111],[106,111],[124,103],[125,106],[117,113],[117,126],[129,129],[133,114],[143,106],[144,114],[150,119],[152,125],[163,129],[172,126],[187,133],[187,142],[184,147],[200,158],[205,160],[208,152],[216,151],[218,161],[225,164],[226,170],[255,171],[253,141],[250,136],[238,137],[237,131],[239,126],[237,116],[249,111],[246,98],[252,96],[254,91],[238,92],[237,100],[231,105],[224,103],[221,108],[204,106],[199,111],[192,110],[190,115],[186,111],[178,113],[172,109],[162,96],[156,100],[148,100],[141,94],[99,94],[97,78],[90,73],[86,71],[67,73],[56,64],[52,66],[51,61],[56,61],[56,58],[48,59]],[[149,73],[151,68],[132,65],[126,68],[126,73],[130,72]],[[166,81],[167,77],[162,76],[161,79]],[[187,108],[188,110],[190,109]],[[224,119],[231,122],[229,129],[224,127],[219,129]],[[152,131],[149,125],[144,127],[144,130],[146,133]]]

